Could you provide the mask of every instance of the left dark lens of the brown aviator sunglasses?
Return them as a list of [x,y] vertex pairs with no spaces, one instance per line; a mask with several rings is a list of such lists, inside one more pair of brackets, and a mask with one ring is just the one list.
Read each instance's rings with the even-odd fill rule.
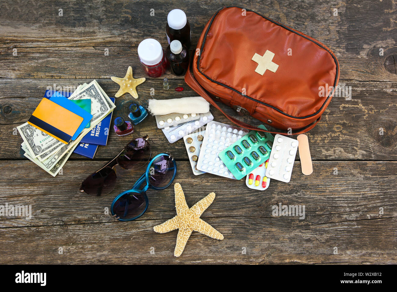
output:
[[81,189],[93,196],[104,196],[110,193],[116,184],[116,172],[110,167],[105,167],[94,172],[81,184]]

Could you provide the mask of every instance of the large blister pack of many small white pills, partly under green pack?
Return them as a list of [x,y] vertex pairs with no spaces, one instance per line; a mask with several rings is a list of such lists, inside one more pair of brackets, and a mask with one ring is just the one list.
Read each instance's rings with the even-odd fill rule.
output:
[[197,169],[208,173],[233,178],[233,174],[220,160],[219,153],[232,143],[241,139],[248,130],[212,121],[207,124],[204,140],[197,161]]

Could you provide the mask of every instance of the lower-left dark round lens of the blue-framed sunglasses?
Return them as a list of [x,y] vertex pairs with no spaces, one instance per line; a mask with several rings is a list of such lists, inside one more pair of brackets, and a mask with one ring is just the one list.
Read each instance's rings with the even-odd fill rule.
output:
[[146,209],[144,194],[130,192],[122,195],[114,202],[112,215],[117,215],[123,220],[131,220],[143,214]]

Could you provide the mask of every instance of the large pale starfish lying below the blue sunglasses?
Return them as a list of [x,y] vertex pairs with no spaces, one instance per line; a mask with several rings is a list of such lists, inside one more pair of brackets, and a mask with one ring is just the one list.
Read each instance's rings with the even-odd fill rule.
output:
[[215,193],[209,193],[189,209],[181,185],[176,183],[174,185],[174,190],[177,215],[163,224],[154,226],[153,229],[158,233],[179,229],[174,251],[175,257],[181,255],[193,230],[206,236],[222,240],[223,235],[218,230],[200,219],[201,214],[211,205],[212,201],[214,201]]

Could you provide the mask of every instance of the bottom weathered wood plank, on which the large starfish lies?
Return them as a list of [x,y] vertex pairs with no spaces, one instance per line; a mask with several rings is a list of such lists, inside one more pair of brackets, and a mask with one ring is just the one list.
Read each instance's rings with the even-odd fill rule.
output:
[[[29,220],[1,218],[1,263],[397,263],[397,162],[314,162],[310,176],[301,174],[296,162],[289,184],[272,180],[261,192],[249,190],[243,180],[210,174],[192,180],[188,162],[178,161],[174,182],[181,183],[189,206],[216,193],[202,218],[225,239],[194,233],[177,259],[177,232],[152,230],[175,215],[173,188],[148,191],[145,215],[118,222],[104,215],[104,208],[141,171],[118,171],[116,189],[106,197],[77,193],[81,180],[101,165],[69,161],[63,175],[48,178],[31,162],[0,162],[0,203],[33,208]],[[305,205],[305,218],[272,216],[279,203]]]

